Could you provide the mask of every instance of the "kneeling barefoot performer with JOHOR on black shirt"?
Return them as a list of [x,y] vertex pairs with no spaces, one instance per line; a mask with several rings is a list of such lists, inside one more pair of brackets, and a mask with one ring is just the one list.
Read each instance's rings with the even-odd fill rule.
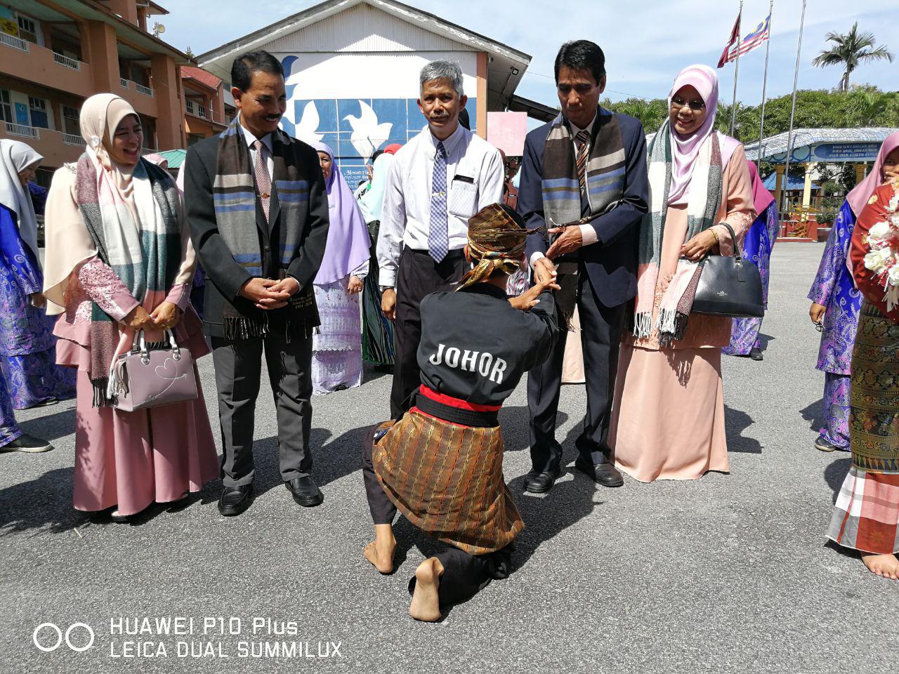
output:
[[524,262],[528,231],[511,208],[483,208],[468,221],[465,254],[475,264],[458,292],[422,306],[415,406],[369,433],[362,472],[375,523],[364,554],[393,572],[396,510],[449,548],[426,559],[409,583],[409,613],[434,621],[492,579],[509,574],[524,523],[503,479],[497,412],[521,377],[547,359],[556,340],[555,284],[512,300],[506,279]]

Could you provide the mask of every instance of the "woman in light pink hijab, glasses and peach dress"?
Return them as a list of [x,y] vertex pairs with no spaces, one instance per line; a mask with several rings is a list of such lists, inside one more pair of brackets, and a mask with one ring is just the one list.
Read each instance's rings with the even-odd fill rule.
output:
[[717,99],[714,70],[682,70],[647,150],[635,320],[621,345],[610,432],[616,466],[641,482],[730,469],[721,348],[731,319],[690,313],[697,262],[731,254],[755,219],[743,146],[715,130]]

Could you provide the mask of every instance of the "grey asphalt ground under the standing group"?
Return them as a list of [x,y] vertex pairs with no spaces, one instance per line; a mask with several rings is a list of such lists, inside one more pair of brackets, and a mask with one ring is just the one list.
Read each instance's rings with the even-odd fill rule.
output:
[[[850,458],[812,446],[823,374],[806,292],[822,250],[775,247],[765,359],[724,359],[730,474],[596,486],[573,470],[585,400],[583,386],[565,386],[567,473],[545,497],[526,496],[522,383],[501,413],[505,475],[526,522],[515,571],[437,624],[407,613],[427,538],[399,520],[392,576],[361,555],[372,529],[360,440],[387,416],[389,375],[367,371],[360,388],[316,397],[325,503],[310,510],[281,486],[274,408],[261,395],[257,496],[232,519],[218,515],[215,482],[179,511],[92,520],[71,506],[74,403],[19,413],[56,450],[0,456],[0,671],[895,670],[899,582],[824,537]],[[214,413],[211,359],[200,372]],[[121,634],[175,617],[186,634]],[[32,638],[44,623],[62,635],[56,650]],[[83,651],[65,639],[89,643],[76,623],[93,631]],[[54,626],[41,627],[40,646],[57,641]]]

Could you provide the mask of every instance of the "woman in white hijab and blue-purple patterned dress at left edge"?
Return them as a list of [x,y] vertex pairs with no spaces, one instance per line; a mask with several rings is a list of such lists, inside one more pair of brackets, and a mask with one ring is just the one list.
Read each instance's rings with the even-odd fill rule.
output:
[[38,226],[28,182],[43,157],[0,140],[0,369],[17,410],[75,397],[75,373],[56,364],[44,310]]

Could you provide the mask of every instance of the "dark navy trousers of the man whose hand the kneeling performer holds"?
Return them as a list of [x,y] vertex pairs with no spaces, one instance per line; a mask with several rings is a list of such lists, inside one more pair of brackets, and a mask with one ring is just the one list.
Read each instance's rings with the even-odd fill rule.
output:
[[[608,463],[610,413],[626,304],[604,306],[593,292],[581,264],[577,311],[581,321],[587,412],[575,446],[581,457],[593,464]],[[563,326],[560,327],[562,330],[549,358],[528,373],[530,461],[539,473],[557,471],[562,462],[562,446],[556,441],[556,412],[568,332]]]

